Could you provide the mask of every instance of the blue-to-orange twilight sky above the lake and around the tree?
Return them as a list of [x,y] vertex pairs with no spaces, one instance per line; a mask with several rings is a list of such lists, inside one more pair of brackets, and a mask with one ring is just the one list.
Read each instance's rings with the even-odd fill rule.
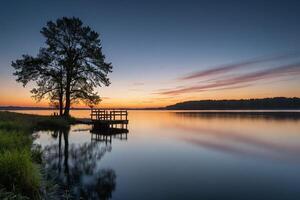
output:
[[[113,65],[100,107],[300,97],[300,1],[1,0],[0,106],[48,106],[11,62],[44,47],[49,20],[78,17]],[[77,105],[84,106],[84,105]]]

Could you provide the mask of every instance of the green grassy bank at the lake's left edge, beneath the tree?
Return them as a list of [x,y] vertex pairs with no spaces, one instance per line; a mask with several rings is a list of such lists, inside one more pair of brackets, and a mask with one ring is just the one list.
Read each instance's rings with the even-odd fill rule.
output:
[[40,153],[32,150],[35,130],[68,127],[74,120],[0,112],[0,199],[39,199]]

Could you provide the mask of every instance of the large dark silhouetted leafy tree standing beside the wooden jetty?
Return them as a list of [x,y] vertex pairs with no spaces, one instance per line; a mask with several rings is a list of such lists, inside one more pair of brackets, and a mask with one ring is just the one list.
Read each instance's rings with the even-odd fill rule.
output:
[[97,86],[108,86],[111,63],[105,62],[99,34],[83,26],[78,18],[63,17],[49,21],[41,30],[46,47],[36,57],[23,55],[12,62],[17,81],[31,90],[37,100],[48,98],[58,102],[60,114],[68,116],[71,103],[98,104]]

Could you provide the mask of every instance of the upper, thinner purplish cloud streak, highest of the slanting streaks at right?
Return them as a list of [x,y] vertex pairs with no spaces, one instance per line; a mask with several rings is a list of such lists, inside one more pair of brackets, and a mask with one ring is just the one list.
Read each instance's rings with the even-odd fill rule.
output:
[[214,75],[224,74],[224,73],[236,70],[236,69],[249,67],[249,65],[254,65],[254,64],[259,64],[259,63],[264,63],[264,62],[279,61],[279,60],[284,60],[284,59],[298,57],[298,56],[299,56],[299,52],[292,52],[292,53],[275,55],[275,56],[261,56],[258,58],[250,59],[250,60],[239,62],[239,63],[221,65],[221,66],[216,66],[213,69],[193,72],[193,73],[187,74],[185,76],[179,77],[178,80],[190,80],[190,79],[196,79],[196,78],[203,78],[203,77],[207,77],[207,76],[214,76]]

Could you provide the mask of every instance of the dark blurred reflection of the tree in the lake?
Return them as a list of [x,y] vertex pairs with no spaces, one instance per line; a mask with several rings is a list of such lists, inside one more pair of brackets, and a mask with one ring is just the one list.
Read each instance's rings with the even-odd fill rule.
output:
[[101,146],[101,143],[92,141],[69,146],[69,131],[54,131],[52,136],[58,138],[58,144],[44,149],[47,178],[58,184],[60,196],[67,195],[71,199],[110,199],[116,187],[115,171],[100,169],[97,163],[107,151],[111,151],[111,145]]

